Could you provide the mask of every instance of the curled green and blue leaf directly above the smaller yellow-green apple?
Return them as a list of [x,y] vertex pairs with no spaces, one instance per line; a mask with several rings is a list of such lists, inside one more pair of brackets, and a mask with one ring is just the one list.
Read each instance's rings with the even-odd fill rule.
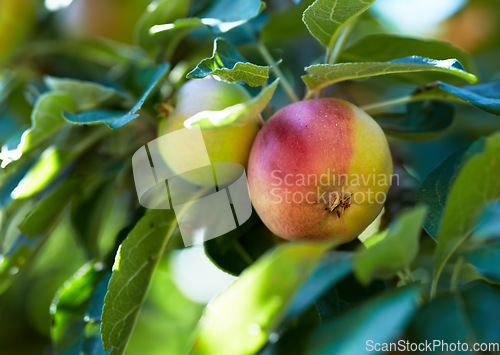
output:
[[208,75],[216,75],[224,81],[244,81],[250,86],[261,86],[269,78],[269,67],[247,62],[233,45],[217,38],[212,56],[203,59],[186,77],[201,79]]

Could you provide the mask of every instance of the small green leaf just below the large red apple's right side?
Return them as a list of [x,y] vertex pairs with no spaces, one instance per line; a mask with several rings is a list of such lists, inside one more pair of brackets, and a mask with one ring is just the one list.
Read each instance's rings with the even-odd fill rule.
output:
[[362,283],[368,284],[374,278],[389,278],[410,267],[418,253],[426,212],[425,207],[417,207],[401,214],[383,240],[356,254],[354,273]]

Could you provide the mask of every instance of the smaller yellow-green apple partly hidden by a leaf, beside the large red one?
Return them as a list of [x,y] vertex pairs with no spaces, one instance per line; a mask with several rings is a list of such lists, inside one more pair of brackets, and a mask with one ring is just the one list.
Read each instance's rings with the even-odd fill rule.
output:
[[[239,84],[218,81],[213,78],[194,79],[184,84],[177,93],[176,107],[159,124],[158,136],[185,128],[184,122],[201,111],[220,111],[229,106],[251,99],[250,94]],[[257,119],[242,125],[203,128],[203,140],[211,163],[232,162],[246,167],[252,142],[259,131]],[[182,148],[179,148],[182,149]],[[189,149],[189,146],[185,147]],[[163,151],[163,157],[174,172],[184,171],[186,161],[175,154],[175,150]],[[193,154],[189,163],[202,166],[203,157]],[[196,163],[199,160],[199,163]],[[218,184],[230,183],[232,177],[217,177]],[[198,185],[213,183],[213,178],[191,176]]]

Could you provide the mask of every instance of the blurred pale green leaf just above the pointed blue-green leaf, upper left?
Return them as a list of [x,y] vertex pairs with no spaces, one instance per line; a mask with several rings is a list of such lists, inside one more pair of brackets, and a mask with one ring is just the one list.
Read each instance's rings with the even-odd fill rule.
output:
[[90,110],[123,99],[123,95],[115,89],[90,81],[46,76],[44,82],[50,90],[71,96],[77,111]]

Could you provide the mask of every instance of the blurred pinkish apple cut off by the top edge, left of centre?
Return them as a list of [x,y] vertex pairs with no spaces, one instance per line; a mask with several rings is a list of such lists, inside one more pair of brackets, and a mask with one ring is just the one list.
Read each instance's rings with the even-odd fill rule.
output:
[[147,0],[73,0],[61,13],[61,29],[71,37],[102,37],[132,43],[135,25],[149,3]]

